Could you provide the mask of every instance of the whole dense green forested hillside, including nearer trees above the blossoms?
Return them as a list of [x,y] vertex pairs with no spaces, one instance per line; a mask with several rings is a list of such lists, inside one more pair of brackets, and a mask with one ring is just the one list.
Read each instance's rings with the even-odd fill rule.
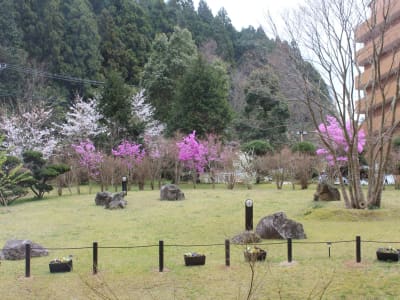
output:
[[3,113],[45,105],[55,122],[76,95],[96,98],[117,142],[143,132],[132,108],[142,93],[167,135],[196,130],[280,144],[312,128],[293,80],[301,76],[290,59],[296,49],[262,28],[237,31],[223,8],[213,15],[206,1],[0,4]]

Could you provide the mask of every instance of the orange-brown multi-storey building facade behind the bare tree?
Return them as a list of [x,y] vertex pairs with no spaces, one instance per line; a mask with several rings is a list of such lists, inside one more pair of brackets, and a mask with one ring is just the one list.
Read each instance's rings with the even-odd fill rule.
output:
[[[395,130],[400,133],[400,1],[374,0],[370,16],[357,26],[355,39],[363,47],[356,61],[363,72],[356,88],[364,97],[358,110],[365,114],[369,132]],[[365,128],[367,129],[367,128]]]

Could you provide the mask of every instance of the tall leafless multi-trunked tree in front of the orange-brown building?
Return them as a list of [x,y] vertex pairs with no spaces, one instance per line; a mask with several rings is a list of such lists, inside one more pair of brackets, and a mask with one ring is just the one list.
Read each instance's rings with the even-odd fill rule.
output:
[[[394,12],[399,10],[396,2],[307,0],[285,18],[286,28],[293,41],[291,58],[302,74],[298,84],[302,85],[305,96],[298,100],[305,101],[321,143],[333,158],[347,208],[381,205],[384,172],[393,133],[398,124],[396,104],[399,99],[399,55],[393,43],[392,47],[385,47],[385,33],[395,21]],[[360,31],[364,31],[361,32],[364,38],[360,38]],[[359,42],[364,42],[368,50],[357,51]],[[309,63],[304,62],[299,49],[321,71],[323,80],[330,86],[329,94],[322,93],[320,86],[312,80],[312,74],[308,71]],[[384,68],[383,58],[386,64]],[[390,76],[395,76],[396,80],[388,80]],[[395,88],[389,86],[393,82],[396,82]],[[328,124],[318,127],[320,120],[326,120],[326,113],[321,105],[324,101],[316,102],[315,95],[320,99],[325,98],[325,102],[328,100],[335,104],[335,111],[330,114],[339,124],[347,145],[345,156],[349,173],[348,188],[340,172],[341,154],[336,151],[335,140],[321,130]],[[358,133],[361,129],[367,135],[367,195],[364,195],[360,183]]]

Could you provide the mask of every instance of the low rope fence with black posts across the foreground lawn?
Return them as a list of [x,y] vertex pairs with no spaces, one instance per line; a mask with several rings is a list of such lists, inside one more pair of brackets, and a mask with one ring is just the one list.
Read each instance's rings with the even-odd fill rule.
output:
[[[379,243],[379,244],[400,244],[400,241],[377,241],[377,240],[363,240],[363,243]],[[287,261],[291,263],[293,261],[293,246],[294,245],[316,245],[316,244],[326,244],[328,246],[328,256],[331,257],[331,247],[334,244],[343,244],[343,243],[355,243],[355,256],[356,262],[361,263],[361,236],[356,236],[354,240],[339,240],[339,241],[315,241],[315,242],[307,242],[307,241],[293,241],[291,238],[288,238],[286,241],[282,242],[267,242],[267,243],[249,243],[245,245],[257,245],[257,246],[272,246],[272,245],[287,245]],[[166,247],[222,247],[225,248],[225,266],[230,266],[230,240],[226,239],[224,243],[211,243],[211,244],[165,244],[163,240],[160,240],[158,244],[150,244],[150,245],[138,245],[138,246],[99,246],[97,242],[93,242],[92,246],[85,247],[56,247],[56,248],[47,248],[47,250],[56,251],[56,250],[84,250],[84,249],[92,249],[92,257],[93,257],[93,274],[97,274],[98,272],[98,251],[99,249],[139,249],[139,248],[155,248],[158,247],[159,253],[159,272],[164,271],[164,248]],[[243,245],[242,245],[243,246]],[[12,250],[4,248],[4,251]],[[25,277],[30,277],[31,275],[31,251],[32,250],[40,250],[39,248],[34,248],[31,244],[25,244]]]

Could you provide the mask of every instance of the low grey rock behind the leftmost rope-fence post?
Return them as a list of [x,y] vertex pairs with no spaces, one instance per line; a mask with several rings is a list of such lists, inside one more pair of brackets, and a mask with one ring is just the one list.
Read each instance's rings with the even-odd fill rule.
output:
[[30,240],[8,240],[1,251],[0,258],[4,260],[25,259],[25,245],[31,244],[31,257],[47,256],[49,251]]

